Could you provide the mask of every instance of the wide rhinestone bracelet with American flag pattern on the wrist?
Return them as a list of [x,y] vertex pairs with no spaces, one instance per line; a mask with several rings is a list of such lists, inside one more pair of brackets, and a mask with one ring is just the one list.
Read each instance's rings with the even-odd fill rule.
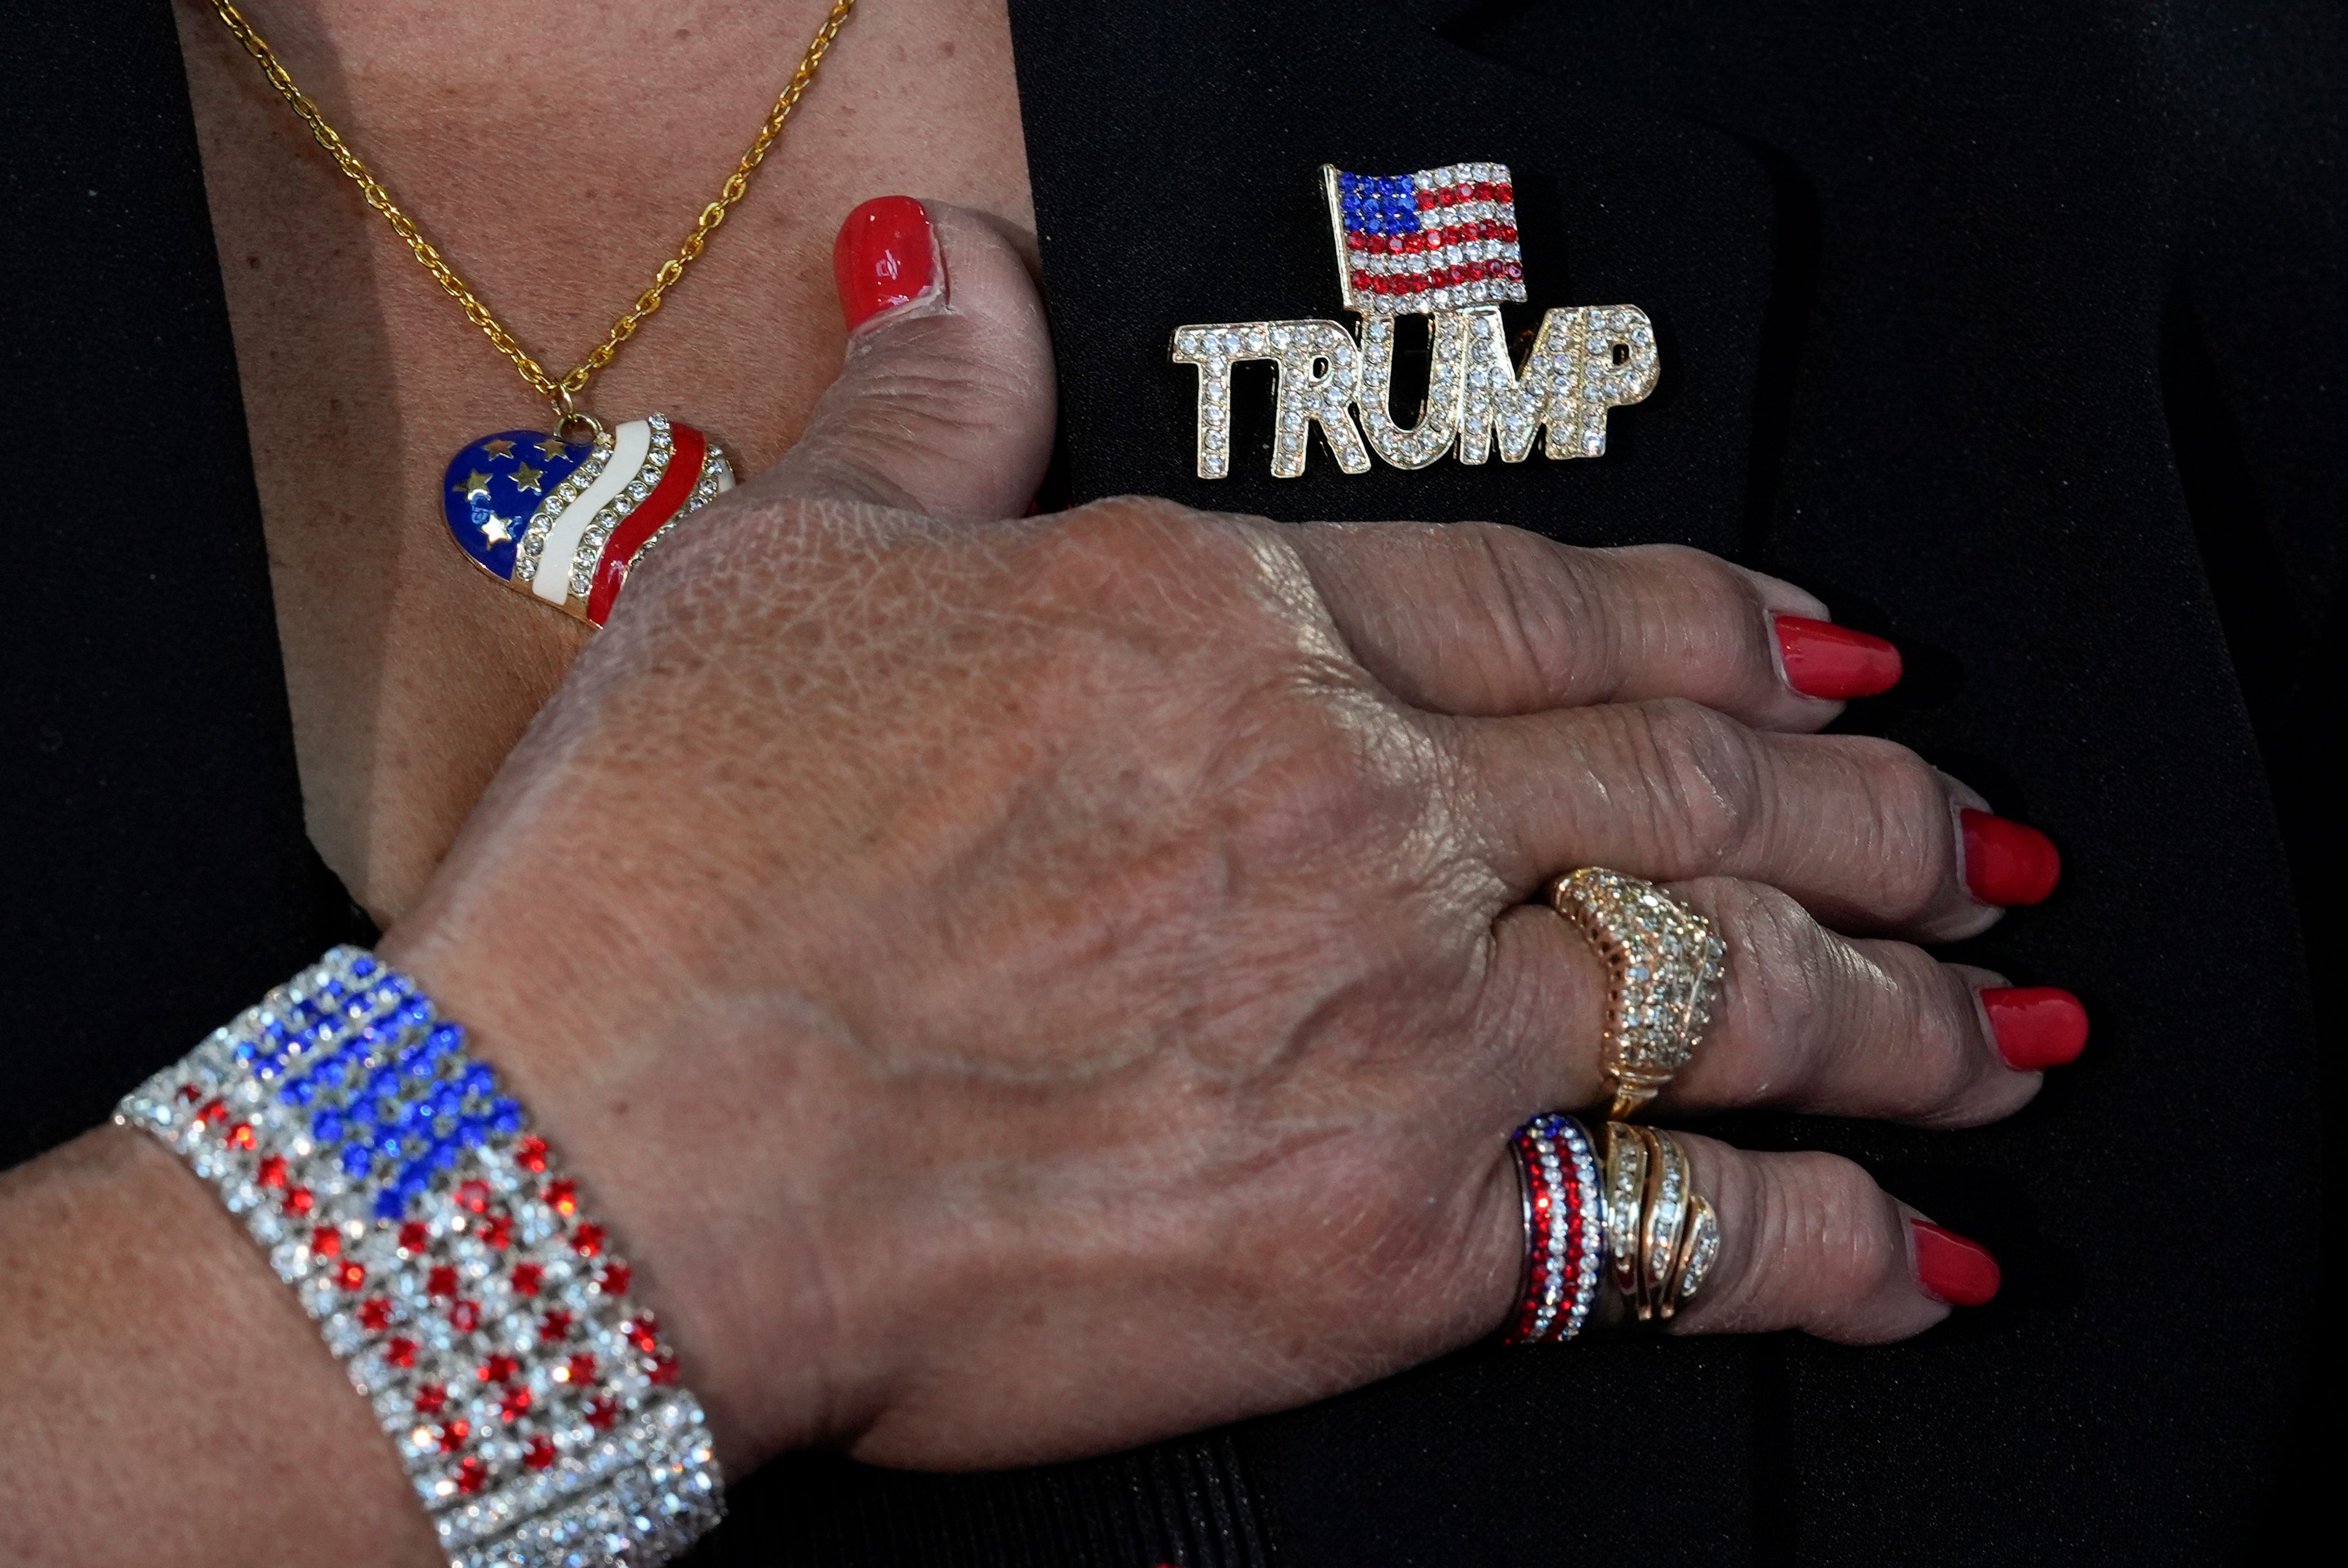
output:
[[451,1568],[643,1568],[723,1514],[629,1265],[411,979],[333,948],[115,1108],[317,1319]]

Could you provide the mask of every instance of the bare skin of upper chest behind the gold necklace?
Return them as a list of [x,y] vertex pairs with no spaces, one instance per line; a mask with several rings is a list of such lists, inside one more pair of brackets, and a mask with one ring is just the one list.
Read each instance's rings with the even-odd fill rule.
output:
[[[256,0],[249,21],[549,373],[716,192],[824,0]],[[221,28],[178,5],[310,838],[378,920],[439,864],[587,634],[446,535],[451,453],[547,406]],[[749,197],[582,406],[756,474],[841,361],[831,237],[873,195],[1033,232],[1000,0],[864,0]]]

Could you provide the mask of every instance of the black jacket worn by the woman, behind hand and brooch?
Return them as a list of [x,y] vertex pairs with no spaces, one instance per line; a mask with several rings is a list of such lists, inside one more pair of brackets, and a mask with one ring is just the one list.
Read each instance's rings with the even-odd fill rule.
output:
[[[301,829],[169,12],[96,9],[0,5],[0,1164],[364,925]],[[2000,1127],[1716,1131],[1860,1157],[2005,1293],[1883,1350],[1479,1347],[1014,1476],[794,1458],[700,1561],[2202,1563],[2313,1498],[2348,21],[1761,9],[1014,0],[1059,484],[1684,540],[1897,638],[1846,723],[2062,843],[2062,892],[1963,955],[2078,991],[2094,1040]],[[1190,477],[1167,333],[1336,315],[1315,167],[1486,157],[1526,322],[1655,322],[1606,458],[1275,484],[1242,380],[1233,477]]]

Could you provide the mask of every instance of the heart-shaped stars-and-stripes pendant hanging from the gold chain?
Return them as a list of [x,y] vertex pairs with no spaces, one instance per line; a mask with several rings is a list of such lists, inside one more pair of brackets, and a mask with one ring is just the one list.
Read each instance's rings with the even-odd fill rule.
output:
[[448,465],[448,533],[491,577],[589,627],[676,519],[733,488],[726,453],[693,425],[650,415],[564,441],[545,430],[481,437]]

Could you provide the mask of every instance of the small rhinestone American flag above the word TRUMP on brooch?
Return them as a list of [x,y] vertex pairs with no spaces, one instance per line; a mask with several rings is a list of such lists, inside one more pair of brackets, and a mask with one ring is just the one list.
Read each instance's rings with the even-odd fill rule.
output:
[[1322,164],[1345,310],[1432,315],[1524,300],[1507,164],[1348,174]]

